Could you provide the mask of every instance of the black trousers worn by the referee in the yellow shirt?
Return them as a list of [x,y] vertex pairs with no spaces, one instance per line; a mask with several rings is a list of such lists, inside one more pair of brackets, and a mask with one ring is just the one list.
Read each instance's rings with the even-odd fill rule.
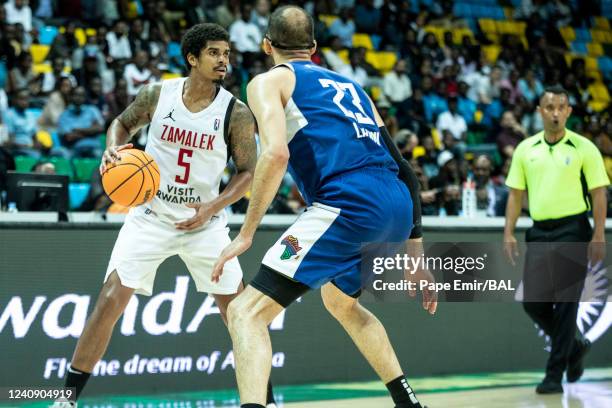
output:
[[551,339],[546,378],[561,382],[576,344],[578,302],[588,268],[586,213],[536,221],[527,231],[523,307]]

